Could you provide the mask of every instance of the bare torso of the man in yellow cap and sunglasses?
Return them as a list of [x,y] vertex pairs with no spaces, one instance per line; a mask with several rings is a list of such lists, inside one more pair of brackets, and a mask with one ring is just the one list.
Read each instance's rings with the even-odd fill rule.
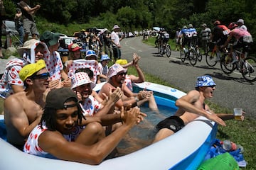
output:
[[43,114],[41,106],[29,98],[25,91],[6,98],[4,101],[4,120],[8,142],[16,145],[16,147],[23,147],[29,133],[41,119]]

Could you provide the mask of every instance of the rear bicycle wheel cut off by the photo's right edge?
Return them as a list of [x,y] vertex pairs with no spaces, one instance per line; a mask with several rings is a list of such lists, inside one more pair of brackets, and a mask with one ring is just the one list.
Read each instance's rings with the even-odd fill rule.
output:
[[249,82],[256,81],[256,59],[255,57],[246,57],[241,65],[242,77]]

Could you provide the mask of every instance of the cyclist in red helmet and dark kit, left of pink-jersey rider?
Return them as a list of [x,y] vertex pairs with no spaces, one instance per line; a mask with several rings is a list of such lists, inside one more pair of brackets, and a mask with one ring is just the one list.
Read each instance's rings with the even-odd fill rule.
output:
[[225,41],[228,39],[230,30],[226,26],[220,24],[220,21],[218,20],[214,21],[213,25],[215,28],[213,29],[210,40],[216,42],[217,59],[215,62],[220,62],[220,45],[224,45]]

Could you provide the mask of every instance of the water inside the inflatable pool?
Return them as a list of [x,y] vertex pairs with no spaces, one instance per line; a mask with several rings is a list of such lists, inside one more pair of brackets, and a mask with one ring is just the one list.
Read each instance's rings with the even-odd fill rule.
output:
[[169,108],[167,106],[158,106],[159,113],[151,111],[147,106],[142,106],[141,111],[146,113],[144,120],[130,130],[124,139],[117,146],[117,155],[122,156],[142,149],[154,140],[156,135],[155,126],[164,118],[174,115],[176,108]]

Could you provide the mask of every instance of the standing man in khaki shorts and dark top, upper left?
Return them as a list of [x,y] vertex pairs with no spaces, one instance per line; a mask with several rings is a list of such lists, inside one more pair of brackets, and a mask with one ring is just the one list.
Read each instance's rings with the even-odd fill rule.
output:
[[41,8],[40,5],[36,5],[33,8],[29,6],[28,0],[20,1],[18,5],[21,7],[22,17],[23,17],[23,28],[25,31],[25,35],[23,38],[23,42],[28,40],[28,34],[32,34],[32,38],[36,39],[36,36],[38,35],[38,30],[36,28],[36,23],[33,18],[36,11],[38,11],[39,8]]

